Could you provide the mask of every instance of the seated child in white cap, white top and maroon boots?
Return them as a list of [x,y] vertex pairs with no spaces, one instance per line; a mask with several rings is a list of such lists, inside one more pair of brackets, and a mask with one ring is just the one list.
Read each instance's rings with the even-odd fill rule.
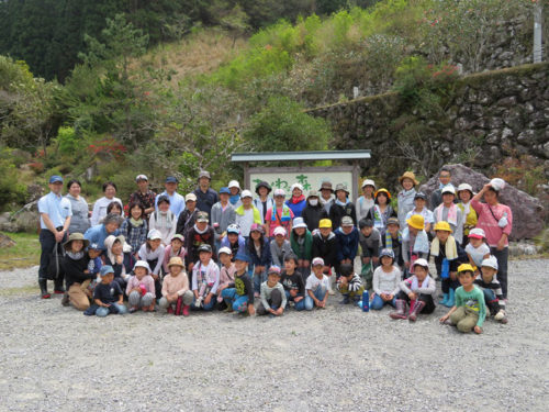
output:
[[[401,281],[400,292],[396,296],[396,312],[392,312],[392,319],[408,319],[411,322],[417,320],[418,313],[429,314],[435,311],[435,293],[437,285],[429,276],[429,264],[419,258],[412,264],[412,277]],[[410,304],[410,315],[406,316],[406,304]]]

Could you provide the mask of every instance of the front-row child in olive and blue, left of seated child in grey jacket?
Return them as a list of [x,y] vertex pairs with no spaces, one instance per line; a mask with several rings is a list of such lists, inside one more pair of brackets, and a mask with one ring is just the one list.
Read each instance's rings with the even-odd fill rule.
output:
[[254,315],[254,287],[248,276],[249,257],[245,254],[235,256],[235,280],[223,289],[221,296],[225,299],[228,311]]

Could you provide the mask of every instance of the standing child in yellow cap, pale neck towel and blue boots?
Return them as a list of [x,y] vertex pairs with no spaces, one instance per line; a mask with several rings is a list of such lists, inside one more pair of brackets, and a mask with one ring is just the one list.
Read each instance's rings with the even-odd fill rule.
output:
[[437,275],[442,279],[444,298],[439,303],[451,308],[455,304],[456,289],[459,287],[457,269],[463,252],[451,235],[448,222],[437,222],[435,233],[436,237],[430,244],[430,255],[435,257]]

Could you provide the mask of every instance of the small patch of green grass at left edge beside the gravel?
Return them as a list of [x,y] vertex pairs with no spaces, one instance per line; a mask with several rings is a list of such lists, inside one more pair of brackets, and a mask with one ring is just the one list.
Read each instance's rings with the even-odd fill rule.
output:
[[36,234],[4,233],[16,245],[0,248],[0,270],[35,266],[40,263],[40,242]]

